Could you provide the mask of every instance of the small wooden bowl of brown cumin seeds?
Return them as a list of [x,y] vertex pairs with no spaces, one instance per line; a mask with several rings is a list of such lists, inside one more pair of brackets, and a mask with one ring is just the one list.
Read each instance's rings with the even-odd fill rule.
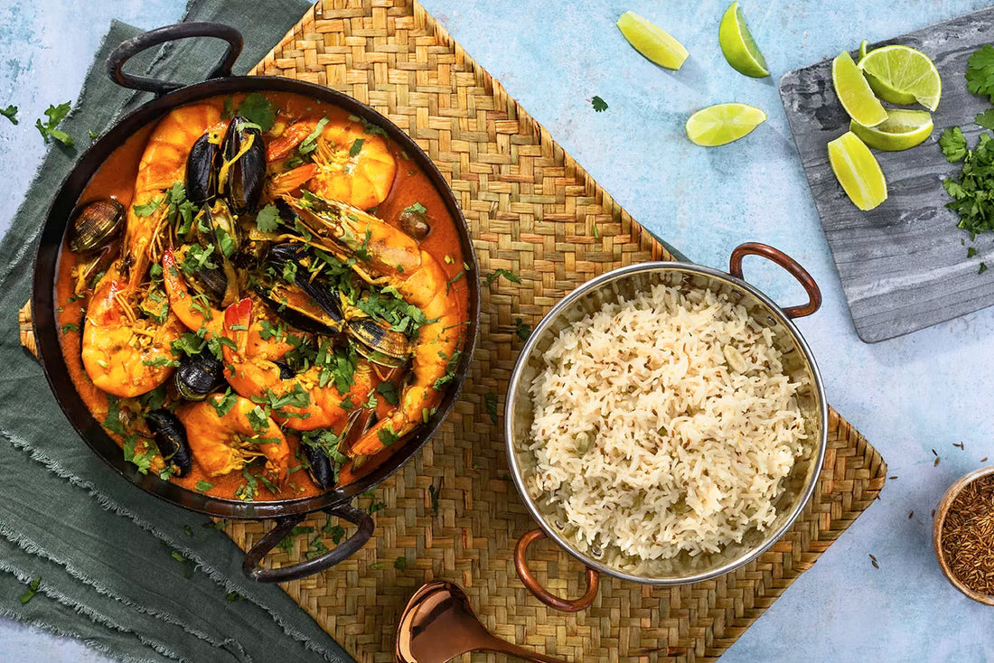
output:
[[932,523],[942,573],[964,594],[994,605],[994,467],[970,472],[945,491]]

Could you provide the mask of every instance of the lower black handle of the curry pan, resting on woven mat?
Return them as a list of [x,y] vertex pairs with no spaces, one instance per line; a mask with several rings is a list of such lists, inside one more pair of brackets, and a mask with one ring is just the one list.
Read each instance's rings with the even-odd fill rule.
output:
[[352,557],[366,542],[373,537],[373,529],[376,524],[369,514],[362,509],[357,509],[351,504],[339,504],[324,510],[330,516],[344,518],[359,528],[359,531],[343,541],[332,550],[313,560],[306,560],[300,564],[281,569],[262,569],[258,566],[269,551],[276,547],[286,535],[290,533],[297,524],[300,523],[306,514],[289,516],[280,519],[269,533],[262,537],[262,540],[252,546],[246,554],[245,562],[242,563],[242,573],[252,580],[259,582],[282,582],[284,580],[300,580],[307,576],[312,576],[325,569],[334,567],[339,562]]

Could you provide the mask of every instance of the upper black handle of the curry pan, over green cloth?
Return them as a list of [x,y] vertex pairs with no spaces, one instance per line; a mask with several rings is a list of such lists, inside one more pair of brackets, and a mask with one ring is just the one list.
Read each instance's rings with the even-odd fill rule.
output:
[[107,76],[118,85],[154,92],[156,96],[179,89],[185,86],[186,83],[174,83],[147,76],[127,74],[124,72],[124,64],[146,49],[165,44],[166,42],[174,42],[191,37],[215,37],[228,42],[228,50],[225,52],[224,57],[218,63],[217,67],[207,75],[205,81],[232,75],[232,67],[235,66],[235,61],[239,59],[239,55],[242,53],[242,46],[244,44],[242,33],[223,23],[191,22],[176,23],[174,25],[167,25],[164,28],[149,30],[133,39],[122,42],[107,57]]

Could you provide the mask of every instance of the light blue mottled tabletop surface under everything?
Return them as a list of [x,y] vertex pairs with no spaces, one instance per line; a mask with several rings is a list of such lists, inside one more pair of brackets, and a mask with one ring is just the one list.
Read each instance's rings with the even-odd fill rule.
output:
[[[943,579],[929,517],[950,483],[980,466],[982,457],[994,457],[994,310],[877,345],[857,339],[775,85],[783,73],[863,39],[893,37],[984,3],[745,0],[773,74],[761,81],[737,74],[722,57],[717,35],[725,0],[423,4],[650,230],[692,259],[718,267],[727,266],[736,245],[765,242],[793,255],[821,284],[822,309],[799,327],[818,358],[830,402],[899,478],[745,632],[723,663],[994,660],[994,611]],[[40,223],[11,219],[42,156],[32,125],[50,103],[76,97],[110,18],[151,28],[176,20],[182,5],[0,0],[0,107],[21,108],[18,126],[0,118],[0,227]],[[628,9],[688,48],[691,57],[680,72],[661,70],[628,47],[613,26]],[[592,110],[594,94],[607,101],[606,111]],[[691,144],[686,117],[722,101],[752,103],[769,119],[725,147]],[[745,273],[783,303],[803,295],[785,273],[757,258],[746,261]],[[959,441],[964,450],[952,446]],[[938,466],[930,449],[941,456]],[[76,642],[0,620],[0,660],[105,659]]]

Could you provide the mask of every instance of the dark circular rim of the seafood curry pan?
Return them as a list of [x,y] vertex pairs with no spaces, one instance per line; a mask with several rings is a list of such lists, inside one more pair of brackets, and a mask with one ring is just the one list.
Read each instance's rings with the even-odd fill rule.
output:
[[[147,33],[146,33],[147,34]],[[401,468],[414,453],[428,440],[441,422],[451,412],[462,390],[476,346],[476,334],[480,317],[479,279],[466,279],[475,286],[469,289],[468,322],[462,358],[457,368],[457,379],[445,393],[438,410],[427,423],[418,426],[408,435],[400,448],[392,448],[391,457],[382,465],[357,481],[313,497],[275,500],[271,502],[243,502],[223,499],[197,493],[182,488],[172,482],[163,481],[157,475],[143,475],[137,468],[124,460],[121,448],[100,427],[89,413],[69,375],[69,369],[62,354],[57,334],[55,302],[55,276],[58,260],[64,246],[64,235],[70,212],[79,200],[83,189],[96,169],[115,149],[142,127],[155,122],[173,108],[193,101],[223,96],[226,94],[252,91],[291,92],[310,96],[320,101],[342,107],[354,115],[383,128],[391,140],[399,144],[414,163],[430,179],[441,195],[445,208],[451,215],[459,236],[459,245],[465,261],[471,267],[470,274],[477,272],[476,255],[469,240],[469,230],[455,197],[441,173],[428,156],[417,146],[407,133],[372,107],[343,92],[320,85],[283,79],[279,77],[230,77],[214,79],[204,83],[194,83],[179,87],[139,107],[118,121],[106,134],[99,138],[83,153],[69,177],[63,182],[52,203],[35,262],[34,282],[31,302],[34,310],[35,335],[39,357],[45,376],[63,412],[72,422],[89,447],[109,464],[118,474],[142,490],[177,506],[231,519],[278,518],[307,514],[329,507],[348,503],[356,496],[389,477]]]

